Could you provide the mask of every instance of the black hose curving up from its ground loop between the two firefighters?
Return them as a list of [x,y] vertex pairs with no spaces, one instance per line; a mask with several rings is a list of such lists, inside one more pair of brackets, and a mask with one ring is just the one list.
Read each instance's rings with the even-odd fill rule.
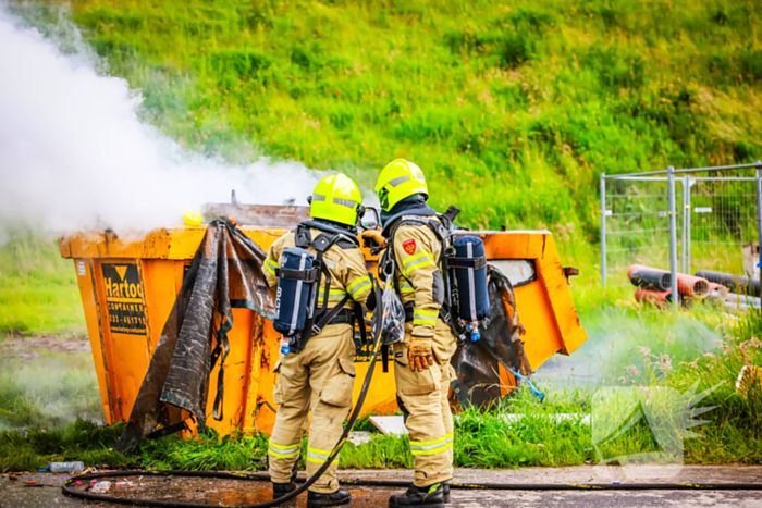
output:
[[[383,299],[381,298],[381,286],[378,284],[376,281],[376,277],[373,277],[372,274],[369,274],[372,287],[376,292],[376,312],[381,312],[381,315],[383,315]],[[360,326],[362,326],[365,323],[360,323]],[[357,418],[359,418],[360,411],[362,410],[362,404],[365,402],[365,398],[368,395],[368,388],[370,387],[370,380],[373,376],[373,371],[376,370],[376,360],[378,359],[380,346],[381,346],[381,326],[378,326],[376,330],[376,333],[373,334],[373,356],[370,359],[370,365],[368,367],[368,373],[365,375],[365,380],[362,381],[362,389],[360,391],[360,395],[357,398],[357,404],[355,404],[355,408],[352,411],[352,414],[349,416],[349,420],[344,428],[344,432],[342,433],[341,437],[339,438],[339,442],[336,443],[336,446],[333,447],[333,450],[329,455],[328,459],[325,459],[325,462],[316,471],[315,474],[312,474],[309,479],[304,481],[302,486],[296,488],[295,491],[290,492],[285,496],[279,497],[278,499],[273,499],[271,501],[267,503],[258,503],[256,505],[241,505],[237,508],[270,508],[273,506],[279,506],[282,505],[283,503],[287,503],[294,498],[296,498],[299,494],[305,492],[307,488],[310,487],[315,482],[318,481],[320,476],[328,470],[328,468],[331,467],[331,463],[333,460],[336,458],[339,455],[339,451],[341,451],[342,447],[344,446],[344,443],[346,443],[347,437],[349,436],[349,433],[352,432],[352,429],[355,426],[355,423],[357,422]],[[102,496],[100,494],[91,494],[89,492],[83,492],[78,491],[76,488],[73,488],[72,485],[75,484],[77,481],[82,480],[93,480],[93,479],[98,479],[98,478],[119,478],[119,476],[131,476],[131,475],[161,475],[161,476],[206,476],[206,478],[221,478],[221,479],[237,479],[237,480],[244,480],[248,479],[249,476],[255,480],[265,480],[267,479],[268,481],[270,478],[268,475],[258,475],[257,478],[254,478],[254,475],[250,474],[235,474],[235,473],[218,473],[218,472],[210,472],[210,471],[118,471],[118,472],[108,472],[108,473],[90,473],[90,474],[81,474],[78,476],[72,476],[69,480],[66,480],[61,490],[63,491],[64,494],[67,494],[73,497],[79,497],[84,499],[91,499],[91,500],[100,500],[100,501],[107,501],[107,503],[119,503],[123,505],[140,505],[140,506],[160,506],[160,507],[173,507],[173,508],[201,508],[201,507],[210,507],[210,506],[219,506],[219,505],[206,505],[206,504],[198,504],[198,503],[179,503],[179,501],[161,501],[161,500],[155,500],[155,499],[133,499],[133,498],[119,498],[119,497],[113,497],[113,496]],[[266,476],[266,478],[261,478]],[[300,479],[298,479],[300,480]]]

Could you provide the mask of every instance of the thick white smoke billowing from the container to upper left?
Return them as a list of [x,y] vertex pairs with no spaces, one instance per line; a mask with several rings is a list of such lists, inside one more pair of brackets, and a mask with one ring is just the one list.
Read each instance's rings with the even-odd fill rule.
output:
[[226,164],[142,123],[140,95],[99,74],[72,26],[51,34],[66,36],[64,53],[0,0],[0,233],[171,226],[231,189],[243,202],[306,203],[320,174],[300,163]]

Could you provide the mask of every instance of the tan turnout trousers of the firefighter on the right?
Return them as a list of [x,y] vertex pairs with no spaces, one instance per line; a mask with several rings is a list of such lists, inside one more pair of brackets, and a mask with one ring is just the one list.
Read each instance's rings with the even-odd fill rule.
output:
[[407,362],[411,323],[405,339],[393,345],[397,404],[405,414],[415,468],[414,484],[425,487],[453,478],[453,413],[447,393],[455,371],[450,359],[457,342],[450,326],[439,319],[431,348],[434,364],[413,372]]

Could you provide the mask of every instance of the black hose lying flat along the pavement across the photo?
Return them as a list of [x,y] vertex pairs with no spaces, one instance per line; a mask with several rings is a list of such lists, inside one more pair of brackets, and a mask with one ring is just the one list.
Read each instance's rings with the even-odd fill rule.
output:
[[[74,497],[82,497],[85,499],[107,501],[107,503],[118,503],[122,505],[140,505],[140,506],[157,506],[163,508],[210,508],[219,507],[220,505],[207,505],[198,503],[180,503],[180,501],[162,501],[155,499],[135,499],[128,497],[111,497],[102,496],[99,494],[90,494],[82,491],[76,491],[71,488],[70,485],[74,481],[82,480],[95,480],[105,478],[124,478],[124,476],[184,476],[184,478],[213,478],[220,480],[247,480],[247,481],[258,481],[258,482],[269,482],[270,476],[268,474],[258,473],[226,473],[226,472],[216,472],[216,471],[109,471],[103,473],[89,473],[82,474],[69,479],[63,484],[64,494],[69,494]],[[309,479],[297,478],[296,482],[304,484],[302,487],[294,492],[304,492],[304,486],[311,485],[312,480],[316,476]],[[410,482],[398,481],[398,480],[341,480],[342,485],[356,485],[356,486],[378,486],[378,487],[400,487],[407,488],[411,485]],[[466,491],[762,491],[761,483],[458,483],[451,482],[451,488],[466,490]],[[292,493],[293,494],[293,493]],[[284,497],[274,499],[268,503],[260,503],[258,505],[235,505],[229,508],[254,508],[261,506],[273,506],[273,503],[284,503]]]

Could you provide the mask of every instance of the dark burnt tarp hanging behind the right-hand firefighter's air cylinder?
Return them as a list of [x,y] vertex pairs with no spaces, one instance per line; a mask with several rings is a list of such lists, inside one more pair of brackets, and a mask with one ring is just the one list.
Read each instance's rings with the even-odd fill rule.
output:
[[518,319],[511,281],[489,264],[487,276],[490,296],[489,323],[479,329],[479,340],[466,339],[458,344],[452,359],[457,375],[453,383],[453,395],[457,397],[462,408],[489,408],[501,399],[501,364],[523,375],[531,374],[521,345],[524,326]]

